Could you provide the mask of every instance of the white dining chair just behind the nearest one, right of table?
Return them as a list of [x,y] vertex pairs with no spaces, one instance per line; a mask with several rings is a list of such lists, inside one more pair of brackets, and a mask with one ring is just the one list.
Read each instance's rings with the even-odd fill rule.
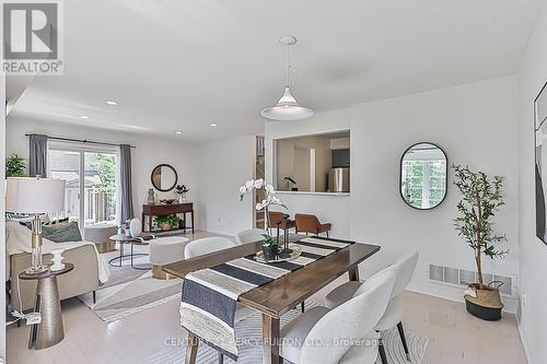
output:
[[[417,251],[404,256],[399,258],[395,263],[381,270],[372,277],[374,278],[375,275],[381,274],[385,271],[393,271],[395,274],[395,284],[393,286],[393,292],[391,294],[387,309],[382,316],[382,319],[377,322],[375,330],[384,331],[396,326],[397,330],[399,331],[400,341],[403,342],[403,349],[405,350],[405,354],[408,361],[410,361],[410,353],[408,351],[405,330],[403,328],[403,302],[399,295],[407,287],[408,283],[410,283],[410,279],[412,278],[412,273],[418,262],[418,256],[419,255]],[[368,280],[364,283],[352,281],[337,286],[325,297],[325,306],[334,308],[338,305],[344,304],[346,301],[353,296],[353,294],[360,289],[361,285],[365,284],[366,282]],[[382,363],[388,364],[384,347],[381,344],[379,349]]]

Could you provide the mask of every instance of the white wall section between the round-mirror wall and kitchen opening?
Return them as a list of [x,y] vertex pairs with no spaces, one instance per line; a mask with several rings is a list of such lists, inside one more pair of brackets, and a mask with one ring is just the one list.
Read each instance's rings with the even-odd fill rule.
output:
[[256,137],[243,136],[199,143],[199,228],[235,235],[253,227],[253,196],[240,201],[240,186],[253,178]]

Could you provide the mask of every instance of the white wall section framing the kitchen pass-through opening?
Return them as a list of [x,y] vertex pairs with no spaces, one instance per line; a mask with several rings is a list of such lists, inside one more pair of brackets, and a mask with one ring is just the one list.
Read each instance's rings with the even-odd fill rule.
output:
[[[276,175],[274,168],[274,140],[282,138],[322,134],[345,131],[350,128],[349,109],[333,110],[314,115],[301,121],[270,121],[266,122],[266,180],[271,181]],[[351,187],[353,188],[353,187]],[[321,221],[333,224],[333,237],[349,237],[349,197],[306,193],[280,193],[279,197],[287,204],[289,213],[313,213]]]

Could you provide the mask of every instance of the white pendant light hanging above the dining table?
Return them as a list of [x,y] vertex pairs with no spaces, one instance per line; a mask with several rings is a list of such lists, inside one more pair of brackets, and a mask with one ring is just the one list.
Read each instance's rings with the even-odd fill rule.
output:
[[313,116],[311,108],[300,106],[296,98],[291,93],[289,85],[289,71],[291,64],[289,62],[289,47],[296,43],[296,38],[292,35],[284,35],[279,38],[279,43],[287,46],[287,68],[286,68],[286,84],[284,92],[278,103],[274,106],[266,107],[260,115],[270,120],[302,120]]

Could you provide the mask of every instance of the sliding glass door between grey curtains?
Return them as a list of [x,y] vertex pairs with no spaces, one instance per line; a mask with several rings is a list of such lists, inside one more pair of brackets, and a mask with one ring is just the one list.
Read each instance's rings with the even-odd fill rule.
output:
[[[63,216],[85,225],[117,222],[118,149],[49,142],[49,177],[65,179]],[[80,223],[83,222],[83,223]]]

